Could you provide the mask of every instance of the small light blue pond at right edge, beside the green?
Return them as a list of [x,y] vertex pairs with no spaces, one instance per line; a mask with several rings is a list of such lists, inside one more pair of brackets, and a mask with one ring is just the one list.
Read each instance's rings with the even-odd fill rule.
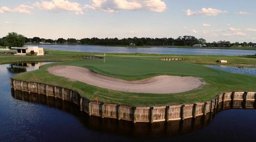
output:
[[255,75],[256,76],[256,68],[239,68],[239,67],[231,67],[231,66],[216,66],[216,65],[206,65],[207,67],[224,70],[226,72],[230,72],[233,74],[246,74],[246,75]]

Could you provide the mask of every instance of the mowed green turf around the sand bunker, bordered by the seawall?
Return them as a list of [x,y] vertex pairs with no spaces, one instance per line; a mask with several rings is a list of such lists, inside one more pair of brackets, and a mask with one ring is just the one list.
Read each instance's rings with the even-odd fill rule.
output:
[[[93,69],[94,72],[129,81],[145,79],[158,75],[194,76],[206,83],[202,87],[177,94],[127,93],[107,90],[47,72],[47,68],[57,65],[79,66]],[[122,103],[137,106],[181,104],[201,102],[212,99],[220,92],[256,91],[256,77],[237,75],[204,65],[183,61],[160,61],[156,57],[107,57],[103,59],[79,59],[48,64],[33,72],[14,76],[15,79],[58,85],[78,91],[83,96],[102,102]],[[175,84],[175,82],[173,82]]]

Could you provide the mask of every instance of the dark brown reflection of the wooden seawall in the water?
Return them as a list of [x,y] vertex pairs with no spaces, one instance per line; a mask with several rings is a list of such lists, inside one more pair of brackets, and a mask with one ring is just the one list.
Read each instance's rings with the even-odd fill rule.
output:
[[243,108],[243,109],[254,109],[255,103],[252,101],[225,101],[218,105],[218,108],[213,113],[208,113],[206,116],[199,116],[184,121],[169,121],[169,122],[157,122],[157,123],[133,123],[130,121],[100,118],[100,117],[89,117],[87,113],[81,112],[79,106],[68,102],[62,101],[61,99],[45,95],[38,95],[34,93],[27,93],[21,91],[12,90],[12,96],[15,99],[40,103],[59,110],[66,111],[73,114],[78,118],[81,123],[87,128],[107,132],[115,135],[125,135],[129,137],[163,137],[163,136],[175,136],[186,134],[191,131],[195,131],[207,126],[214,118],[217,112],[225,109],[232,108]]

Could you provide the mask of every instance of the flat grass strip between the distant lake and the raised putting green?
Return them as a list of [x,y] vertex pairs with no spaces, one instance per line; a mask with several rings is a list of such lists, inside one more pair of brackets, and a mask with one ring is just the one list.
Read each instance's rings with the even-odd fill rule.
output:
[[[73,52],[73,51],[58,51],[49,50],[50,55],[44,56],[14,56],[13,54],[3,54],[0,52],[0,64],[7,63],[19,63],[19,62],[31,62],[31,61],[66,61],[80,59],[83,55],[103,55],[100,53],[86,53],[86,52]],[[229,66],[239,66],[239,67],[255,67],[256,58],[254,56],[205,56],[205,55],[156,55],[156,54],[106,54],[107,58],[113,57],[150,57],[157,60],[163,57],[178,57],[184,58],[185,62],[195,63],[195,64],[207,64],[207,65],[218,65],[217,60],[223,59],[228,60]]]

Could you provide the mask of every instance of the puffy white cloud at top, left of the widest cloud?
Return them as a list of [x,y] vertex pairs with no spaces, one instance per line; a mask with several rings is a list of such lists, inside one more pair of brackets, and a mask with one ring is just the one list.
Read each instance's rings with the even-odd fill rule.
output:
[[67,0],[52,0],[52,1],[42,1],[34,3],[36,7],[41,10],[60,12],[69,11],[75,14],[83,14],[83,9],[80,4],[75,2],[69,2]]

